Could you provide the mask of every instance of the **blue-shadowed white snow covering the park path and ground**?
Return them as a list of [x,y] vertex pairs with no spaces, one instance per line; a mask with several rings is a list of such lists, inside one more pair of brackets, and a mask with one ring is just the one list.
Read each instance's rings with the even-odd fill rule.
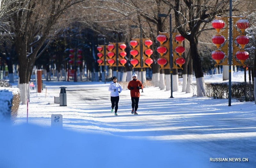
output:
[[[244,72],[233,73],[232,82],[243,80]],[[30,90],[28,124],[20,104],[15,123],[0,125],[0,167],[255,167],[254,102],[232,99],[228,106],[228,99],[181,92],[179,81],[174,98],[144,87],[139,115],[131,114],[130,91],[120,82],[118,116],[110,112],[110,82],[44,81],[41,93]],[[67,106],[54,104],[60,86],[67,87]],[[62,128],[51,126],[52,114],[63,116]]]

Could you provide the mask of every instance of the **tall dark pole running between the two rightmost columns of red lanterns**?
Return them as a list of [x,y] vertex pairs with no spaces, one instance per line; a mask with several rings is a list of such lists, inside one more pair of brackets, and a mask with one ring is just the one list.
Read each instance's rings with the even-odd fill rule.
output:
[[231,106],[231,61],[232,61],[232,0],[229,0],[229,68],[228,68],[228,106]]

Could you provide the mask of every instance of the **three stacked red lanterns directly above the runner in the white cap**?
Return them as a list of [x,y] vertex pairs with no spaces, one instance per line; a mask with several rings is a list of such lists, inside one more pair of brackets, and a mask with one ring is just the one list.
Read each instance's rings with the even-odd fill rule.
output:
[[140,39],[132,39],[130,41],[130,46],[132,47],[132,50],[130,51],[130,54],[132,55],[132,59],[130,60],[130,63],[134,67],[140,67]]

